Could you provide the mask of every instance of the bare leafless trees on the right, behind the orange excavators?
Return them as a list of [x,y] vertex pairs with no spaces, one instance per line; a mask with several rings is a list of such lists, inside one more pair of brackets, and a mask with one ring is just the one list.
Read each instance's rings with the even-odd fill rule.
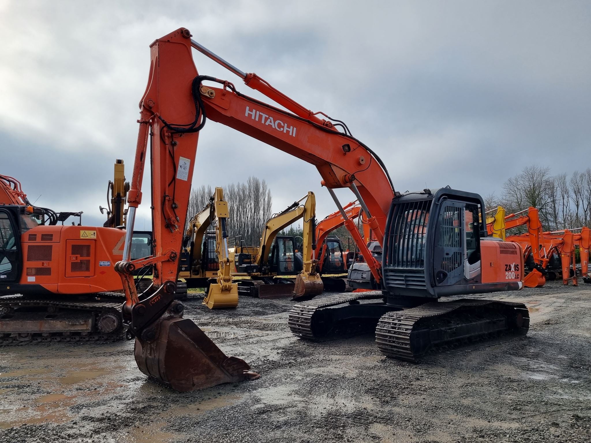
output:
[[545,230],[591,227],[591,168],[551,175],[550,167],[528,166],[505,182],[501,197],[486,197],[485,205],[501,205],[508,214],[536,207]]

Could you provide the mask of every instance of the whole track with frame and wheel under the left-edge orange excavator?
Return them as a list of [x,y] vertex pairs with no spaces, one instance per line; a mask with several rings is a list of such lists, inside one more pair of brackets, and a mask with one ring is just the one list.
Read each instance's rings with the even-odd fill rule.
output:
[[[0,297],[0,346],[48,341],[112,341],[125,332],[121,292],[97,299]],[[25,314],[20,319],[21,314]]]

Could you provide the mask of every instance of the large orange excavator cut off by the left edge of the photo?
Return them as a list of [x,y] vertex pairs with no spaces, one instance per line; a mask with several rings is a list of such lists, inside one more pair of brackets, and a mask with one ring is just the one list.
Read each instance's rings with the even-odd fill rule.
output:
[[81,215],[36,207],[18,180],[0,175],[1,345],[122,334],[114,265],[123,254],[124,231],[64,226]]

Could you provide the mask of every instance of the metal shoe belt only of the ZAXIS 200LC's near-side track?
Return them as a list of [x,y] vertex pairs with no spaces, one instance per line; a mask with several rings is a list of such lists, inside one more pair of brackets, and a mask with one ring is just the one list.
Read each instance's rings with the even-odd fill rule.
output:
[[[462,307],[480,307],[489,304],[504,305],[506,307],[514,307],[517,310],[523,311],[524,314],[524,330],[527,330],[530,325],[530,315],[527,307],[522,303],[496,301],[496,300],[460,300],[450,302],[432,302],[427,303],[416,308],[411,308],[404,311],[392,311],[382,315],[379,319],[375,330],[375,341],[378,349],[389,357],[407,361],[417,361],[422,357],[422,354],[414,355],[411,350],[411,331],[417,321],[422,318],[439,317],[449,314]],[[489,334],[482,334],[476,337],[476,340],[482,341],[488,338]],[[459,340],[459,339],[458,339]],[[476,341],[473,340],[473,341]],[[453,345],[455,342],[444,344],[443,346]],[[438,347],[431,348],[428,353],[436,352]]]

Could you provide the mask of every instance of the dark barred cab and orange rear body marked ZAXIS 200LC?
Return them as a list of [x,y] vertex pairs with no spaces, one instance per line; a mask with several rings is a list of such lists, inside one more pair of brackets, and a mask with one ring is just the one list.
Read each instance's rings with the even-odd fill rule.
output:
[[521,248],[488,237],[483,211],[478,194],[450,188],[394,198],[382,257],[393,303],[521,289]]

